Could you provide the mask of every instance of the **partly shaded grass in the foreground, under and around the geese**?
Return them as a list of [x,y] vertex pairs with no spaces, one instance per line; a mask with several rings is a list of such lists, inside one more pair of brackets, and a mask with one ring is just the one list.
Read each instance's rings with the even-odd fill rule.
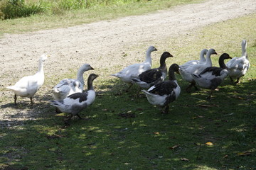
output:
[[[193,35],[173,38],[166,47],[173,50],[171,62],[181,64],[188,60],[184,56],[197,55],[205,47],[215,48],[219,55],[240,56],[240,43],[246,39],[251,67],[241,84],[234,86],[225,79],[208,101],[208,90],[187,94],[184,89],[188,84],[177,75],[181,96],[171,103],[169,115],[162,115],[144,96],[133,98],[136,86],[120,96],[122,82],[96,79],[95,103],[81,113],[88,120],[74,119],[68,128],[63,127],[65,115],[54,115],[55,108],[46,101],[33,108],[23,106],[35,112],[41,109],[41,118],[0,129],[0,167],[256,169],[255,18],[252,14],[215,23]],[[213,65],[217,60],[213,57]],[[50,93],[44,95],[51,98]]]

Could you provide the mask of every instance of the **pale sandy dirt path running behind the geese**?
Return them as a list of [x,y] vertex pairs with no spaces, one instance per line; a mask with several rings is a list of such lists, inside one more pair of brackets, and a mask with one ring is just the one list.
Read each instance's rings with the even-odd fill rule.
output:
[[[75,70],[83,63],[90,63],[97,68],[96,73],[100,69],[114,73],[127,64],[144,60],[144,52],[149,45],[190,33],[211,23],[255,12],[255,0],[210,0],[201,4],[175,6],[143,16],[128,16],[21,35],[6,34],[0,39],[0,86],[15,84],[21,77],[36,72],[38,58],[43,53],[51,56],[45,65],[46,79],[58,79],[60,74],[66,74],[70,69]],[[129,57],[122,57],[121,60],[120,56],[125,53]],[[154,57],[154,53],[152,55]],[[50,91],[55,83],[44,84],[41,94],[42,91]],[[32,113],[42,113],[38,110],[35,113],[35,110],[31,111],[29,108],[15,108],[11,91],[1,89],[2,125],[31,119]],[[28,101],[27,98],[26,102]],[[43,106],[34,107],[40,110]]]

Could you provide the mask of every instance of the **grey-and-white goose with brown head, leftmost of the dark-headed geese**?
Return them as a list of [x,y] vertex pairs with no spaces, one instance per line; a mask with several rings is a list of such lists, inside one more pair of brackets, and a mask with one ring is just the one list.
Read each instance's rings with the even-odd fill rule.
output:
[[63,101],[50,101],[51,105],[59,108],[63,113],[70,114],[66,123],[68,123],[68,121],[73,118],[74,115],[77,115],[78,118],[82,119],[79,113],[95,101],[96,94],[92,86],[92,81],[94,81],[97,77],[97,74],[89,75],[87,79],[88,89],[86,92],[71,94],[70,96],[64,98]]

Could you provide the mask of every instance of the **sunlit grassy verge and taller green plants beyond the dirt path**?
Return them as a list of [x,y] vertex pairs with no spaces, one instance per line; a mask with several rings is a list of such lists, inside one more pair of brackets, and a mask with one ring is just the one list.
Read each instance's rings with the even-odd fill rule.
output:
[[[1,13],[1,8],[3,8],[1,6],[3,6],[3,3],[6,1],[7,0],[0,1],[0,18],[3,18],[4,16],[4,13]],[[118,18],[122,16],[139,15],[159,9],[170,8],[171,6],[176,6],[178,4],[195,3],[201,0],[87,0],[84,1],[87,3],[87,5],[84,5],[86,6],[86,8],[84,7],[75,9],[73,7],[71,8],[70,5],[68,5],[71,4],[68,3],[70,1],[75,0],[27,1],[27,6],[30,6],[29,4],[33,6],[38,5],[43,8],[43,13],[33,14],[28,18],[16,18],[1,21],[0,37],[4,33],[22,33],[48,28],[63,28],[68,26],[75,26],[82,23],[91,23],[94,21]],[[88,5],[89,2],[90,6]],[[63,6],[69,7],[64,8]]]

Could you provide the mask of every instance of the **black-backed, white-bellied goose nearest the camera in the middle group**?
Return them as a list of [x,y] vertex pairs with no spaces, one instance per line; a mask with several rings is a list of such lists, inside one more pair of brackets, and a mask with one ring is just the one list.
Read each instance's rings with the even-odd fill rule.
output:
[[149,103],[163,107],[161,113],[168,113],[169,103],[175,101],[181,93],[181,88],[178,86],[174,72],[178,73],[178,64],[171,64],[169,80],[161,81],[151,86],[147,91],[142,90]]

